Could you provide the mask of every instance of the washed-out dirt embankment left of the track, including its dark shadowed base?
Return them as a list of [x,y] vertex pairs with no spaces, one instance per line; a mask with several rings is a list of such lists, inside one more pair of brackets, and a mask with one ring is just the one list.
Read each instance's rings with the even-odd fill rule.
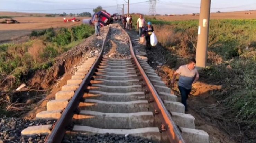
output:
[[[107,27],[101,29],[102,33],[106,30]],[[89,57],[98,55],[103,38],[104,35],[88,37],[81,44],[55,58],[53,66],[48,70],[38,70],[24,75],[22,81],[27,85],[25,88],[21,91],[0,93],[0,102],[10,103],[6,109],[0,110],[9,111],[11,117],[24,116],[26,119],[33,119],[36,113],[45,110],[47,101],[54,99],[55,93],[71,78],[75,66]],[[33,111],[29,112],[31,109]],[[27,112],[29,113],[25,115]]]

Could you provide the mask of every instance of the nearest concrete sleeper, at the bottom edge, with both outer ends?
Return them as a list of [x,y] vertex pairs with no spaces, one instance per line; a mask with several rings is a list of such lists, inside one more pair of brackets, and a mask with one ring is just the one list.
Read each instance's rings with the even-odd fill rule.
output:
[[[52,125],[40,125],[40,126],[30,126],[22,130],[21,135],[23,136],[33,136],[37,134],[49,134],[51,132]],[[181,135],[186,143],[208,143],[209,135],[202,131],[190,128],[181,127]],[[167,135],[165,133],[160,133],[158,127],[147,127],[147,128],[137,128],[137,129],[102,129],[94,128],[90,126],[74,125],[72,131],[67,131],[67,134],[76,133],[86,133],[88,135],[95,134],[106,134],[113,133],[119,135],[132,135],[140,136],[148,139],[152,139],[158,142],[169,142]]]

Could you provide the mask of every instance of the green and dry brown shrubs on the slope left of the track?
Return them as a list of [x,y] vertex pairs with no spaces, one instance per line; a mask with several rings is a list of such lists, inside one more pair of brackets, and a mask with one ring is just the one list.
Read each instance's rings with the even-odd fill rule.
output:
[[[8,77],[14,77],[19,85],[22,77],[38,69],[52,66],[54,58],[79,44],[82,39],[94,33],[89,25],[73,28],[53,28],[42,31],[32,31],[30,40],[21,44],[0,45],[0,82]],[[2,85],[3,86],[3,85]],[[15,88],[12,85],[10,88]]]

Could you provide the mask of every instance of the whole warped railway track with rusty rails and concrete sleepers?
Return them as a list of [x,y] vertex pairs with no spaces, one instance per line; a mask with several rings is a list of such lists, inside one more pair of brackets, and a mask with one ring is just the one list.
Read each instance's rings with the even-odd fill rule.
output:
[[170,88],[146,61],[137,59],[128,34],[122,31],[129,39],[132,58],[104,56],[106,36],[99,56],[77,67],[55,100],[47,103],[47,110],[37,114],[37,119],[58,119],[57,122],[28,127],[22,135],[49,133],[45,140],[48,143],[61,142],[65,134],[78,133],[121,134],[125,135],[124,142],[127,135],[161,143],[209,142],[206,132],[195,129],[194,117],[184,114],[177,96],[170,94]]

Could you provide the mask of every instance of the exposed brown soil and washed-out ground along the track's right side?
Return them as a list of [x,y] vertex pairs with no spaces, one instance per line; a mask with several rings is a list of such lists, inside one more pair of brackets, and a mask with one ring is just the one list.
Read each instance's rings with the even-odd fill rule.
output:
[[[138,44],[138,34],[135,31],[128,31],[128,34],[133,41],[133,45],[136,51],[143,51],[147,53],[148,63],[155,69],[155,72],[162,78],[168,87],[172,89],[172,92],[178,96],[180,100],[180,94],[177,90],[177,84],[171,87],[170,81],[174,73],[174,69],[170,68],[168,61],[164,57],[164,53],[168,52],[164,47],[157,45],[152,47],[151,50],[146,50],[144,45]],[[180,61],[179,64],[184,64],[184,61]],[[175,63],[176,64],[176,63]],[[210,136],[210,143],[232,143],[231,137],[219,128],[214,121],[210,118],[204,118],[200,112],[207,112],[209,105],[218,103],[216,99],[211,96],[211,92],[221,89],[221,86],[209,85],[203,82],[197,82],[193,85],[192,94],[188,99],[189,114],[195,117],[196,129],[204,130]],[[218,112],[216,111],[216,114]]]

